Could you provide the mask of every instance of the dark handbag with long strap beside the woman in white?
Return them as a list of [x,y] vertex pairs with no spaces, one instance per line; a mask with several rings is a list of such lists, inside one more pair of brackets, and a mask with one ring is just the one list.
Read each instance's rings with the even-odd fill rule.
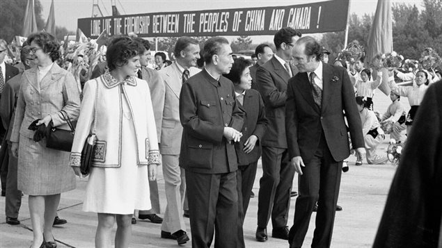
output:
[[94,103],[95,113],[94,113],[93,131],[91,134],[88,135],[88,138],[86,138],[83,150],[81,151],[80,172],[84,176],[90,173],[90,169],[92,168],[92,163],[94,158],[95,141],[97,140],[97,136],[95,135],[95,131],[97,130],[97,100],[98,100],[98,81],[97,81],[97,90],[95,91],[95,103]]

